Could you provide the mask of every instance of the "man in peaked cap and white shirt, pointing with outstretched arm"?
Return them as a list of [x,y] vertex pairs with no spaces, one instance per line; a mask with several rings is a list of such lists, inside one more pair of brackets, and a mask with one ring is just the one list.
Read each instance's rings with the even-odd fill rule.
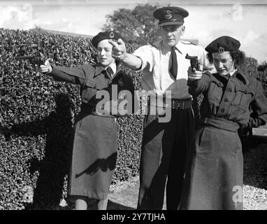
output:
[[[180,7],[157,9],[154,18],[159,20],[162,40],[144,45],[133,54],[126,51],[122,40],[110,41],[115,59],[143,71],[141,84],[149,94],[140,155],[138,209],[162,209],[165,186],[167,209],[178,209],[180,204],[185,161],[195,127],[192,96],[187,87],[190,62],[185,56],[197,56],[201,69],[210,68],[201,46],[180,40],[188,15]],[[161,122],[162,109],[165,116],[171,117],[167,123]]]

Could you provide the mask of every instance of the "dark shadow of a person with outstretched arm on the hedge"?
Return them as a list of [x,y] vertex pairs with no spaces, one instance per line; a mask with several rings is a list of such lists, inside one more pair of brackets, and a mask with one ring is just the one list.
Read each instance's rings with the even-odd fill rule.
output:
[[[45,209],[60,203],[64,195],[65,177],[70,165],[71,102],[67,94],[55,96],[56,109],[43,120],[15,125],[10,134],[20,136],[46,135],[43,159],[29,161],[31,174],[38,171],[32,204],[25,209]],[[65,185],[66,188],[66,185]]]

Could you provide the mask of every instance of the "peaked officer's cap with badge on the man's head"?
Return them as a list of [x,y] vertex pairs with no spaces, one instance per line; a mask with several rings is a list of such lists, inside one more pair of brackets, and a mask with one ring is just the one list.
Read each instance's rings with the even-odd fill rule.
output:
[[159,26],[166,25],[182,25],[184,23],[184,18],[186,18],[189,13],[184,8],[168,6],[163,8],[158,8],[154,11],[154,18],[159,20]]

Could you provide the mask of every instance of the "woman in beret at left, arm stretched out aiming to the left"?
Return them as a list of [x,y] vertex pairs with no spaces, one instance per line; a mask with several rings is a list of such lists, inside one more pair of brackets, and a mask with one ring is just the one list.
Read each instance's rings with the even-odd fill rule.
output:
[[[75,118],[72,139],[71,169],[68,176],[68,195],[75,198],[75,209],[87,209],[89,198],[98,200],[97,209],[107,208],[108,192],[117,160],[117,127],[115,118],[118,112],[110,111],[108,104],[100,104],[97,94],[110,86],[133,92],[131,77],[122,73],[112,57],[110,39],[122,38],[115,32],[100,32],[92,38],[99,64],[83,64],[78,67],[41,65],[41,73],[49,73],[55,80],[80,85],[81,111]],[[111,85],[112,84],[112,85]],[[102,94],[101,94],[102,96]],[[110,97],[110,96],[109,96]],[[118,99],[118,98],[117,98]],[[111,106],[113,106],[112,104]],[[117,107],[117,104],[115,104]]]

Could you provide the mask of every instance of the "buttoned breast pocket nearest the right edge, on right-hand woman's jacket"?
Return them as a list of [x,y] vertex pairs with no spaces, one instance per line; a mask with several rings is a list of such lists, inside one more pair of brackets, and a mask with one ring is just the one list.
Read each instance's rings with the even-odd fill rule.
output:
[[231,105],[237,106],[246,111],[249,109],[250,102],[252,102],[253,97],[254,93],[249,87],[236,85]]

